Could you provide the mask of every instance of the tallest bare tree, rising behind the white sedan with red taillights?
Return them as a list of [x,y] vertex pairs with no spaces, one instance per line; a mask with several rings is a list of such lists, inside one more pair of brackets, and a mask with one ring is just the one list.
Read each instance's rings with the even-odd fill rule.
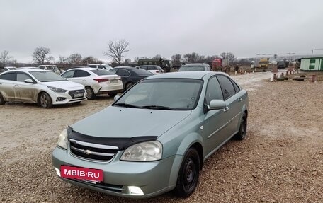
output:
[[121,64],[125,57],[123,54],[130,51],[128,46],[129,42],[127,40],[112,40],[108,42],[107,52],[103,52],[103,54],[111,57],[117,64]]

